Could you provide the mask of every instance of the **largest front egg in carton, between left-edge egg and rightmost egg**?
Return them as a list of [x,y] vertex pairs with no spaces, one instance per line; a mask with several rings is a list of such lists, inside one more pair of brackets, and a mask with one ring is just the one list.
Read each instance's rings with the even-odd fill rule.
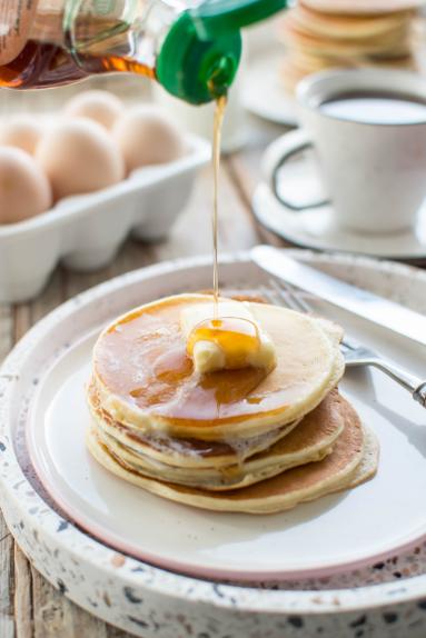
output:
[[55,200],[100,190],[125,177],[117,144],[88,119],[59,121],[41,139],[36,159],[50,180]]

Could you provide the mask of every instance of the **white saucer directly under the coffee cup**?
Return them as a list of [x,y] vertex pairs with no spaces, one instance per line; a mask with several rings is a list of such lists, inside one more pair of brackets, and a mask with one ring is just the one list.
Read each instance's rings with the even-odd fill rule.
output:
[[[295,203],[325,199],[316,166],[311,158],[286,165],[283,169],[281,195]],[[254,195],[252,209],[266,228],[296,246],[317,250],[353,252],[405,261],[426,258],[426,206],[413,231],[392,235],[360,235],[337,228],[331,206],[294,212],[277,200],[265,182]]]

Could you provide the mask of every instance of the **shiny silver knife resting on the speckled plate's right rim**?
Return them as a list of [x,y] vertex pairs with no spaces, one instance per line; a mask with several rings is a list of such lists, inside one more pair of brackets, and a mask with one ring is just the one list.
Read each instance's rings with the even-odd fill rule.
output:
[[300,263],[278,248],[256,246],[250,257],[278,279],[426,346],[426,317],[423,315]]

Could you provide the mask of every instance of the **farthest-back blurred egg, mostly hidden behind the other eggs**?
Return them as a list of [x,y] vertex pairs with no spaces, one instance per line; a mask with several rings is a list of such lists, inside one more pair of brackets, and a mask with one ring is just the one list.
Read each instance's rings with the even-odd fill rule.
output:
[[89,118],[110,129],[123,110],[122,101],[109,91],[85,91],[71,98],[63,112],[73,118]]

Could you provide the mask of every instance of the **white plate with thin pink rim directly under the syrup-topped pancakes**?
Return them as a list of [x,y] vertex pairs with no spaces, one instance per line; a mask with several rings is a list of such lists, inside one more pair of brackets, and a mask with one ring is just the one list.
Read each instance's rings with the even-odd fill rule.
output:
[[[209,275],[206,267],[189,269],[179,287],[185,281],[186,289],[204,288]],[[254,289],[266,281],[249,263],[237,262],[225,270],[225,279],[232,285],[242,277]],[[139,301],[176,289],[177,277],[147,280]],[[122,293],[121,298],[121,310],[135,302],[127,302]],[[426,347],[407,343],[326,305],[318,310],[414,372],[425,373]],[[67,322],[72,320],[71,316]],[[359,567],[418,542],[426,534],[426,412],[376,372],[351,371],[341,385],[380,441],[377,477],[355,490],[289,512],[255,517],[172,504],[110,475],[85,448],[89,416],[83,386],[99,329],[86,330],[55,358],[39,385],[27,433],[46,489],[71,519],[103,542],[168,569],[252,581]]]

